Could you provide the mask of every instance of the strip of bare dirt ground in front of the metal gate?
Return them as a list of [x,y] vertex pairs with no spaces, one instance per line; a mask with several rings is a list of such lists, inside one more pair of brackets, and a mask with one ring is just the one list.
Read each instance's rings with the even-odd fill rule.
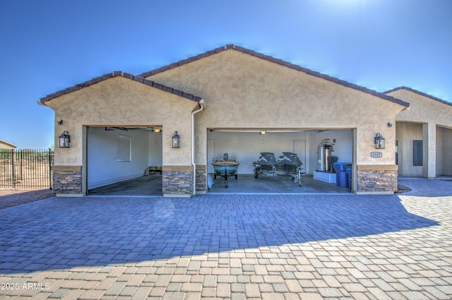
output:
[[18,190],[18,189],[0,189],[0,210],[11,208],[16,205],[30,203],[37,200],[54,197],[52,190]]

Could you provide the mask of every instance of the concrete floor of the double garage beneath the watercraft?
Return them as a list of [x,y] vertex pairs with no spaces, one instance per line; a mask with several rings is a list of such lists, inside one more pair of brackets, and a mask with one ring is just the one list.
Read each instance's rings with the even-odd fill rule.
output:
[[261,174],[258,179],[254,174],[239,174],[238,179],[228,178],[228,187],[225,188],[225,179],[217,177],[213,181],[209,194],[223,193],[266,193],[266,194],[293,194],[293,193],[350,193],[350,188],[327,184],[314,180],[312,175],[302,176],[302,186],[295,183],[290,176],[270,176]]

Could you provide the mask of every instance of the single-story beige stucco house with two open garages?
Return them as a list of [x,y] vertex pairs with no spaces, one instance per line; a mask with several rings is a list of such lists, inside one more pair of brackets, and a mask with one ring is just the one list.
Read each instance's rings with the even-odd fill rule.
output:
[[139,75],[114,71],[39,103],[55,112],[55,145],[70,138],[55,149],[60,196],[149,166],[162,167],[163,196],[207,193],[210,162],[225,152],[243,174],[266,151],[295,152],[314,174],[326,139],[352,165],[355,193],[394,193],[400,175],[452,175],[452,104],[410,88],[376,92],[234,44]]

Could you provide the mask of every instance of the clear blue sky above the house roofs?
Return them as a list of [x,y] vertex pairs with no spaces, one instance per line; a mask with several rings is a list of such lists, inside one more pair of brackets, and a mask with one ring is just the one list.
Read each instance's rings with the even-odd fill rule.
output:
[[41,97],[230,43],[452,102],[451,16],[451,0],[0,0],[0,139],[48,148],[54,112]]

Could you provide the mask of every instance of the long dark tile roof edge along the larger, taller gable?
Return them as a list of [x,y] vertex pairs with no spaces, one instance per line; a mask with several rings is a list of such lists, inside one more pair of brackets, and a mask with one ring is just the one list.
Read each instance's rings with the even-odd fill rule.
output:
[[273,56],[268,56],[266,54],[255,52],[253,50],[246,49],[244,47],[239,47],[239,46],[236,46],[234,44],[227,44],[225,46],[218,47],[218,48],[210,50],[208,52],[204,52],[204,53],[198,54],[196,56],[191,56],[188,59],[183,59],[182,61],[177,61],[177,62],[175,62],[173,64],[169,64],[167,66],[162,66],[160,68],[155,68],[154,70],[151,70],[151,71],[148,71],[148,72],[145,72],[145,73],[141,73],[138,76],[140,76],[140,77],[153,76],[154,74],[157,74],[157,73],[160,73],[160,72],[163,72],[163,71],[167,71],[167,70],[172,69],[172,68],[177,68],[178,66],[183,66],[184,64],[189,64],[192,61],[197,61],[198,59],[203,59],[204,57],[207,57],[207,56],[210,56],[210,55],[213,55],[213,54],[217,54],[217,53],[225,51],[227,49],[234,49],[234,50],[237,50],[239,52],[243,52],[245,54],[250,54],[250,55],[256,56],[256,57],[258,57],[260,59],[265,59],[265,60],[271,61],[271,62],[273,62],[275,64],[280,64],[282,66],[287,66],[287,68],[293,68],[293,69],[295,69],[297,71],[301,71],[301,72],[307,73],[307,74],[309,74],[311,76],[316,76],[316,77],[323,78],[323,79],[328,80],[328,81],[332,81],[333,83],[338,83],[340,85],[344,85],[347,88],[353,88],[355,90],[359,90],[361,92],[366,92],[366,93],[374,95],[376,97],[380,97],[380,98],[382,98],[384,100],[389,100],[391,102],[395,102],[395,103],[403,105],[405,107],[410,107],[410,103],[405,102],[405,101],[400,100],[400,99],[397,99],[395,97],[386,95],[383,92],[376,92],[375,90],[370,90],[369,88],[364,88],[364,87],[362,87],[360,85],[356,85],[355,83],[349,83],[349,82],[347,82],[345,80],[340,80],[339,78],[335,78],[335,77],[332,77],[332,76],[328,76],[326,74],[322,74],[322,73],[319,73],[319,72],[316,72],[316,71],[312,71],[309,68],[304,68],[302,66],[291,64],[290,62],[283,61],[282,59],[275,59]]

